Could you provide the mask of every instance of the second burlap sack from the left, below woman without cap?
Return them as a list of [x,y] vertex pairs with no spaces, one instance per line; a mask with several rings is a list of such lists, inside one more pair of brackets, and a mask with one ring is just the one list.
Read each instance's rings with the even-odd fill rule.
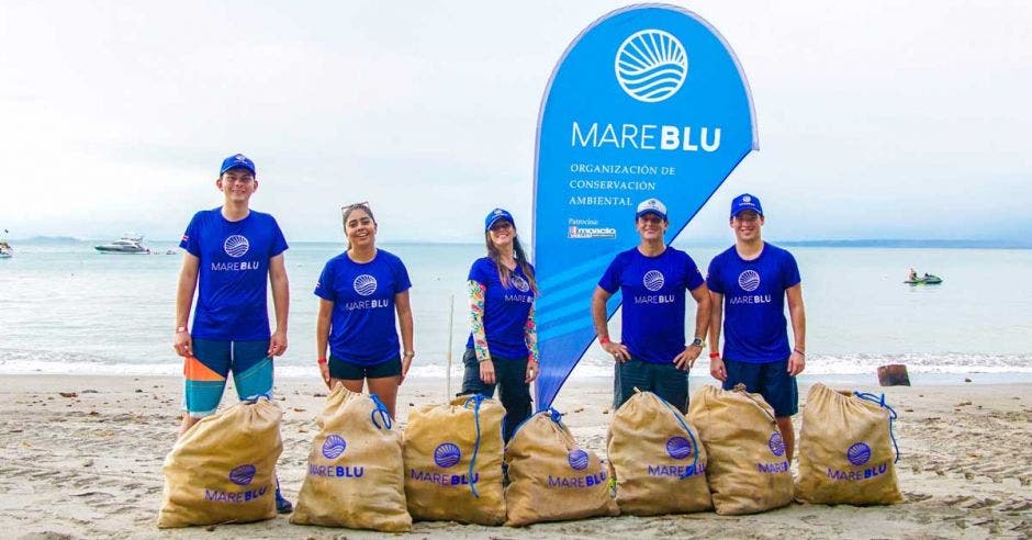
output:
[[317,423],[319,434],[290,522],[410,530],[402,432],[386,407],[375,395],[337,384]]

